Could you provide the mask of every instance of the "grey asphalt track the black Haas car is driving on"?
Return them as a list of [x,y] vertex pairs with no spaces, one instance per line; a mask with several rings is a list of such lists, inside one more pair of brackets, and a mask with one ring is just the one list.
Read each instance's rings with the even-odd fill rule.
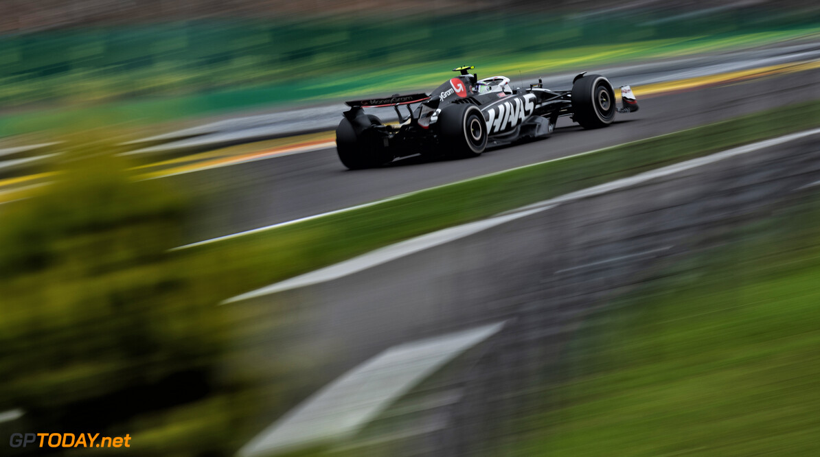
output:
[[[171,180],[206,196],[198,199],[197,218],[188,230],[187,242],[197,242],[818,99],[818,80],[820,70],[807,70],[655,97],[641,97],[637,90],[640,111],[618,115],[615,124],[606,129],[584,130],[563,118],[550,138],[499,148],[474,159],[426,163],[409,159],[380,169],[348,171],[335,149],[329,148],[183,174]],[[628,80],[613,83],[627,84]]]

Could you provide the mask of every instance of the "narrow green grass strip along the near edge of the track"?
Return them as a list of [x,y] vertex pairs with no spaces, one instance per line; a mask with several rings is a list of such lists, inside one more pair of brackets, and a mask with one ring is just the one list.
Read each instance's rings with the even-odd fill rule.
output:
[[[225,290],[247,292],[248,286],[261,287],[440,228],[728,147],[816,127],[818,119],[817,103],[781,107],[431,188],[359,210],[190,248],[180,255],[203,256],[203,265],[208,265],[206,259],[213,256],[225,260],[216,265],[243,265],[243,281],[225,284]],[[214,276],[218,278],[218,272]]]

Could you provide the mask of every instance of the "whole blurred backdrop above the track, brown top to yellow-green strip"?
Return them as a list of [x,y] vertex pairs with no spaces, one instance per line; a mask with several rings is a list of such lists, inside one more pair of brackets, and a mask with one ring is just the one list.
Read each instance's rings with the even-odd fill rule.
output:
[[145,123],[426,88],[453,61],[480,60],[488,75],[574,70],[760,43],[817,25],[812,2],[10,1],[2,8],[0,103],[14,114],[0,120],[4,135],[76,115]]

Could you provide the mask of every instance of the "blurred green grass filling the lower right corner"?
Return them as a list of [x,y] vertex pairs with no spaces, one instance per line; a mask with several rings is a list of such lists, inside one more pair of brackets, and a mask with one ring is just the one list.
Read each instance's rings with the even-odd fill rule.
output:
[[[505,455],[818,455],[820,201],[734,233],[581,328]],[[786,212],[786,215],[782,215]]]

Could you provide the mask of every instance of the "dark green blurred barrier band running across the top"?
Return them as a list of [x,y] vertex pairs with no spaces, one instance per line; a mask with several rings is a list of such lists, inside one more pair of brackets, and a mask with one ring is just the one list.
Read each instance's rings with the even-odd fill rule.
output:
[[[0,37],[0,77],[8,82],[48,79],[66,83],[107,79],[139,95],[158,84],[170,91],[219,87],[281,75],[326,75],[396,63],[460,59],[470,55],[540,52],[544,48],[633,43],[646,39],[717,37],[728,33],[799,29],[816,25],[814,11],[732,9],[703,15],[674,10],[617,11],[600,15],[522,14],[514,11],[390,18],[210,20],[126,27],[52,30]],[[814,16],[813,16],[814,15]],[[628,26],[626,26],[628,25]],[[480,52],[476,52],[479,51]],[[177,74],[176,70],[184,70]],[[158,79],[166,75],[164,80]],[[154,80],[156,79],[156,80]],[[57,94],[56,84],[41,97]],[[3,95],[11,95],[4,87]],[[36,94],[32,94],[36,95]],[[3,100],[5,101],[5,100]]]

